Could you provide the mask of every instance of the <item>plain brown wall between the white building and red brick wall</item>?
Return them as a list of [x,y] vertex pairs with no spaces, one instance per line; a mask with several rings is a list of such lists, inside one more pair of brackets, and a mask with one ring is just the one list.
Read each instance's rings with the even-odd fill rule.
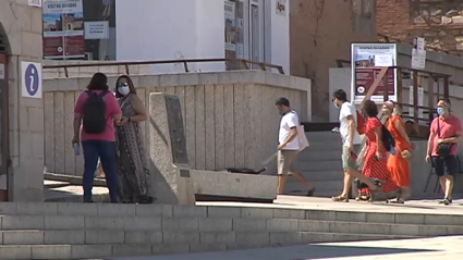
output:
[[350,60],[352,42],[377,40],[376,0],[291,0],[290,12],[291,74],[313,79],[312,119],[326,122],[329,69]]

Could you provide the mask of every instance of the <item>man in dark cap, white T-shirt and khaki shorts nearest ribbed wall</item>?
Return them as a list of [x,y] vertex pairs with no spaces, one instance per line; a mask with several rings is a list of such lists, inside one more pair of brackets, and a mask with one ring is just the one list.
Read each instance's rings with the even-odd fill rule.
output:
[[297,160],[301,150],[301,144],[297,138],[297,126],[300,125],[297,113],[291,109],[290,101],[287,98],[277,100],[277,108],[281,113],[280,131],[278,134],[278,190],[279,195],[284,191],[287,177],[293,173],[297,181],[307,187],[307,196],[313,196],[315,188],[305,181],[301,172],[293,169],[293,163]]

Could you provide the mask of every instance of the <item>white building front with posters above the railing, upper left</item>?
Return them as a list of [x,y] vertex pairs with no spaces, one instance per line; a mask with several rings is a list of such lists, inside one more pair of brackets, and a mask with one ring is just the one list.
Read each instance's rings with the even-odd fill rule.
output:
[[[289,7],[281,0],[44,0],[44,57],[149,61],[245,59],[289,71]],[[191,71],[241,63],[191,64]],[[156,65],[154,72],[183,71]]]

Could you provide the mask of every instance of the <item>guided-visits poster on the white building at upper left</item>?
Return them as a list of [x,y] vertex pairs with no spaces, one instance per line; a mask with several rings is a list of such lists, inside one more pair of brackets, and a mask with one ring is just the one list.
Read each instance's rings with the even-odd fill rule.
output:
[[83,58],[85,52],[82,0],[44,0],[44,58]]

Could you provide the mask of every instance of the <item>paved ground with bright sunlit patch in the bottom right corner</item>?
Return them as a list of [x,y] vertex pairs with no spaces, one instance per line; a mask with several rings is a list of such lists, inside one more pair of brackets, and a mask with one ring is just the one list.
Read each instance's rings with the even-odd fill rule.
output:
[[117,258],[117,260],[456,260],[463,258],[462,243],[463,237],[456,236],[410,240],[329,243],[226,252]]

